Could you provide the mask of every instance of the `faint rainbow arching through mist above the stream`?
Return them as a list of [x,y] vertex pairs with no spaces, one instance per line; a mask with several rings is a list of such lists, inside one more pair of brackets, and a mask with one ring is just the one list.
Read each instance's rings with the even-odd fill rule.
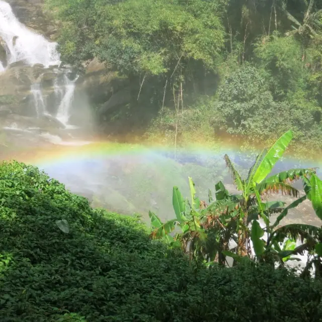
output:
[[[45,171],[51,167],[66,167],[73,164],[93,162],[95,160],[107,160],[118,158],[119,160],[132,160],[140,162],[144,158],[170,158],[176,159],[178,163],[202,164],[205,159],[222,159],[226,153],[234,162],[241,167],[249,167],[261,147],[252,150],[240,147],[231,141],[221,141],[210,145],[191,144],[186,147],[178,147],[162,144],[125,144],[109,141],[96,142],[70,142],[64,145],[50,145],[46,147],[29,148],[21,151],[11,152],[5,155],[7,160],[18,160],[26,164],[38,166]],[[244,162],[242,161],[244,160]],[[241,164],[240,164],[241,163]],[[222,164],[223,160],[222,160]],[[322,175],[322,156],[305,155],[301,158],[286,153],[279,161],[279,168],[319,168],[317,173]],[[193,174],[192,174],[193,175]]]

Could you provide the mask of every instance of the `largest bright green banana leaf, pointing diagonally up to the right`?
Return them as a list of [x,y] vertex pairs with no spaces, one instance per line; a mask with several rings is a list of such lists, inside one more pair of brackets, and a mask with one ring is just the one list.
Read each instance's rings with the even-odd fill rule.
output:
[[285,152],[292,138],[293,138],[293,133],[291,130],[289,130],[286,133],[284,133],[267,151],[266,155],[262,159],[262,162],[258,166],[253,176],[252,181],[254,183],[259,184],[268,176],[268,174],[272,171],[278,159]]

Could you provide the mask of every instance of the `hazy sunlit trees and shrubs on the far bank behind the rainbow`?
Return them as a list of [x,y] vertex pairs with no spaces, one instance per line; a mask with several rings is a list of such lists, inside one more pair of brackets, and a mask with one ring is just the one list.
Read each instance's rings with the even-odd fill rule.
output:
[[320,149],[320,0],[47,4],[62,22],[64,61],[82,68],[96,56],[130,79],[130,104],[106,115],[119,131],[144,120],[149,138],[170,143],[292,129],[294,142]]

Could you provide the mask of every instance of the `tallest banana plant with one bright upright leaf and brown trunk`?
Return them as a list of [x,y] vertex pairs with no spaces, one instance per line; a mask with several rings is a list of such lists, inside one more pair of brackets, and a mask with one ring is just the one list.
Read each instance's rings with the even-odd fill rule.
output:
[[[272,212],[282,212],[284,203],[264,203],[262,197],[268,193],[278,193],[299,196],[299,191],[291,186],[291,183],[301,178],[315,174],[315,169],[292,169],[273,176],[269,176],[276,162],[281,158],[287,146],[293,138],[292,131],[284,133],[269,149],[263,149],[257,156],[254,165],[250,168],[248,177],[241,178],[228,155],[224,156],[226,166],[231,173],[233,182],[240,195],[231,200],[226,200],[227,207],[234,208],[238,216],[237,225],[237,255],[251,257],[249,223],[262,218],[269,228],[269,215]],[[220,206],[216,201],[210,208]],[[287,212],[286,212],[287,213]],[[285,213],[284,213],[285,214]],[[283,215],[284,215],[283,214]],[[255,224],[255,227],[258,227]],[[254,229],[256,229],[254,227]],[[253,241],[254,243],[254,241]],[[256,241],[255,241],[256,243]],[[259,248],[263,251],[262,247]]]

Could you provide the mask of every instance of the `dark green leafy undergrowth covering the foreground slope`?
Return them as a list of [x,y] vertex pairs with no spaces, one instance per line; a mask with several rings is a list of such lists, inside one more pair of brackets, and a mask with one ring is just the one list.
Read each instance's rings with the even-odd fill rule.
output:
[[0,319],[318,321],[322,284],[255,263],[206,268],[138,217],[92,209],[37,168],[0,165]]

